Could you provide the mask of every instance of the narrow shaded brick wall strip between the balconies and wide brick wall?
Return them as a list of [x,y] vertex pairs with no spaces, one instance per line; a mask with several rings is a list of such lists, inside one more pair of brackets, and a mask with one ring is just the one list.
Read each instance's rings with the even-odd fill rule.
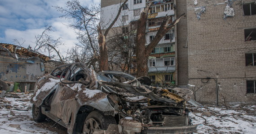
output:
[[[176,16],[179,17],[185,13],[185,16],[181,18],[179,23],[176,25],[177,34],[177,85],[188,84],[188,49],[187,43],[187,13],[186,13],[186,1],[187,0],[176,0]],[[192,1],[192,0],[190,0]]]

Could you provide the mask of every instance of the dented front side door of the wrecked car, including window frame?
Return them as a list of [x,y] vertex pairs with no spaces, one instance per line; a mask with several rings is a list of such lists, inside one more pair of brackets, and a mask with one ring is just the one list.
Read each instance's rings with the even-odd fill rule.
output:
[[67,69],[65,80],[61,80],[58,84],[51,102],[50,113],[66,124],[68,124],[71,114],[76,109],[75,96],[90,81],[89,70],[84,66],[84,64],[75,63]]

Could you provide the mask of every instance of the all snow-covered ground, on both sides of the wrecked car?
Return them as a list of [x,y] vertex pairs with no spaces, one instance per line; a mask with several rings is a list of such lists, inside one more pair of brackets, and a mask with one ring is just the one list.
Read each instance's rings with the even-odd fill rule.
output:
[[[66,134],[66,129],[53,121],[37,123],[32,119],[32,94],[21,98],[0,98],[0,134]],[[197,134],[256,134],[256,105],[226,108],[204,105],[190,107]],[[53,126],[53,127],[52,127]]]

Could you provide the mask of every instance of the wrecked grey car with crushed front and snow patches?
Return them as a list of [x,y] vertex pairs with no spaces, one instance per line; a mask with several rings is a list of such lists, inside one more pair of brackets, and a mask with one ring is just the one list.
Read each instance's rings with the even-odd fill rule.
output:
[[32,116],[51,118],[68,134],[189,134],[185,100],[150,86],[148,77],[118,71],[95,73],[83,63],[65,64],[35,85]]

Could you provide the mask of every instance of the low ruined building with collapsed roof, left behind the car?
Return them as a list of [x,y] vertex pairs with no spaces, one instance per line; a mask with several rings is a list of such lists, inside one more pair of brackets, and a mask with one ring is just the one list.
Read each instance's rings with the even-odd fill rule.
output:
[[0,43],[0,80],[11,84],[9,91],[33,90],[37,77],[59,64],[48,56],[21,46]]

